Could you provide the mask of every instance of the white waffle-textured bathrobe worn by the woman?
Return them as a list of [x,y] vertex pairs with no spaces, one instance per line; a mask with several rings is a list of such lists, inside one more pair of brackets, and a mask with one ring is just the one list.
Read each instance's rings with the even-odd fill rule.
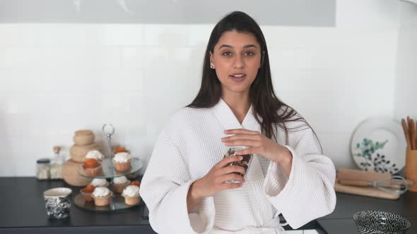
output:
[[[244,185],[216,192],[187,211],[189,186],[223,159],[228,147],[221,138],[227,129],[260,131],[252,112],[242,125],[221,99],[210,109],[184,108],[175,113],[153,149],[141,182],[140,194],[149,209],[149,221],[157,233],[284,233],[278,214],[292,228],[334,210],[335,169],[310,128],[301,121],[278,130],[278,143],[293,155],[290,176],[279,164],[256,155]],[[301,128],[299,128],[301,126]]]

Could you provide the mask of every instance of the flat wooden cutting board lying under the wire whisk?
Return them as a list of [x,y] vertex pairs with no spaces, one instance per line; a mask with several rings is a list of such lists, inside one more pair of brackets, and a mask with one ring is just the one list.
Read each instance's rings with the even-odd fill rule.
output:
[[385,192],[377,189],[376,187],[357,187],[349,185],[341,185],[339,183],[334,184],[334,190],[336,192],[348,193],[351,195],[361,195],[366,197],[379,197],[384,199],[399,199],[399,195],[395,195],[391,192]]

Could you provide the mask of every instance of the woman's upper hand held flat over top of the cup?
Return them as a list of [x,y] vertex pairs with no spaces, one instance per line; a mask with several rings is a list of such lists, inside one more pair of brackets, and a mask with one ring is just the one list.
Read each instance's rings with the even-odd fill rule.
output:
[[225,146],[249,147],[247,149],[237,151],[236,154],[260,154],[270,161],[281,164],[281,166],[292,161],[292,155],[286,147],[281,146],[257,131],[231,129],[225,130],[225,134],[233,135],[221,139]]

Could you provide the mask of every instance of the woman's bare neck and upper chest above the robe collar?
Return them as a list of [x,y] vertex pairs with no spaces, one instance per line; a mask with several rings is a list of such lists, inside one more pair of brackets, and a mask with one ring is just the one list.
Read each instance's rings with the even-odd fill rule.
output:
[[249,101],[249,94],[245,94],[243,92],[233,92],[233,93],[225,93],[221,95],[223,101],[230,107],[230,109],[235,114],[237,121],[242,124],[245,116],[247,115],[247,111],[250,108],[250,101]]

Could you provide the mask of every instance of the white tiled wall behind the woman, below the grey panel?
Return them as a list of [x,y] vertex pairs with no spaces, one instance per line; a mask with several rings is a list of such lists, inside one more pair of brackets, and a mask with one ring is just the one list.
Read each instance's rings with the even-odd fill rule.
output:
[[[278,97],[307,118],[336,167],[355,167],[361,121],[394,116],[399,5],[341,0],[336,27],[262,25]],[[54,145],[68,156],[78,129],[104,143],[108,121],[114,142],[147,162],[170,114],[199,89],[212,27],[0,24],[0,176],[33,176]]]

